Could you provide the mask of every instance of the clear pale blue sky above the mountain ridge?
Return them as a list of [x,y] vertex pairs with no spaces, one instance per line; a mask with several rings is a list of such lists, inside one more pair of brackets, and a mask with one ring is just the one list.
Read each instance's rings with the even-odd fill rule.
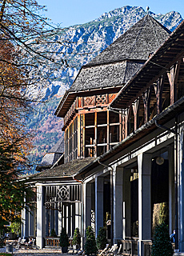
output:
[[90,22],[101,14],[122,6],[150,6],[155,14],[176,10],[184,18],[183,0],[38,0],[47,6],[45,16],[62,27]]

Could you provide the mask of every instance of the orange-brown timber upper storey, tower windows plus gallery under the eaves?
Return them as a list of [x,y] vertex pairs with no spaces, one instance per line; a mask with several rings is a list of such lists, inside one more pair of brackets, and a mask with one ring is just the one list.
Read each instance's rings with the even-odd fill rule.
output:
[[[183,59],[136,94],[120,99],[118,108],[108,108],[116,94],[100,94],[75,99],[65,120],[65,162],[76,158],[97,157],[149,122],[156,114],[183,95]],[[159,70],[159,67],[158,67]],[[137,89],[136,89],[137,90]],[[132,95],[132,97],[131,97]],[[136,96],[134,96],[136,95]],[[126,105],[126,107],[125,107]],[[71,119],[73,117],[73,119]],[[68,124],[68,125],[67,125]]]

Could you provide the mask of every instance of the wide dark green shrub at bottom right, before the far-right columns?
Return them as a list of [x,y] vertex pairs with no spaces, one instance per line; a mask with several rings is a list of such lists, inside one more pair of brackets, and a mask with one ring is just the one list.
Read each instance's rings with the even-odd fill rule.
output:
[[169,229],[165,223],[155,227],[152,256],[171,256],[174,254],[169,236]]

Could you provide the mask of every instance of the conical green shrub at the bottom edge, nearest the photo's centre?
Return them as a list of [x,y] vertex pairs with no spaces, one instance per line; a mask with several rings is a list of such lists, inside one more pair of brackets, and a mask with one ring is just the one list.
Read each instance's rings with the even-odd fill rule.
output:
[[91,226],[88,226],[86,229],[86,243],[84,246],[85,253],[87,255],[97,254],[97,244],[94,238],[94,230]]

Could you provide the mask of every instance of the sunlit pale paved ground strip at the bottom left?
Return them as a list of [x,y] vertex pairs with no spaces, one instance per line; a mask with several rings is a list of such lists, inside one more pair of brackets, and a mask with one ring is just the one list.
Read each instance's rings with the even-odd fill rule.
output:
[[[42,250],[26,250],[26,249],[14,249],[14,256],[26,256],[26,255],[36,255],[36,256],[58,256],[58,255],[72,255],[73,250],[69,250],[67,254],[62,254],[61,249],[42,249]],[[6,253],[6,247],[0,248],[0,254]],[[74,254],[73,254],[74,255]]]

